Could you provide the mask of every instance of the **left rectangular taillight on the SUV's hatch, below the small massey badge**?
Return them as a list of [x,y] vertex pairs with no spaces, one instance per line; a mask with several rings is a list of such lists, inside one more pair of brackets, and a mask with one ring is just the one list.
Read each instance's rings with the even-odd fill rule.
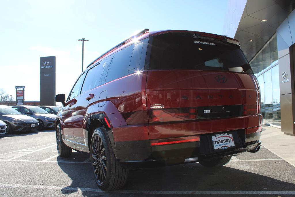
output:
[[149,122],[173,122],[197,119],[197,108],[170,108],[148,110]]

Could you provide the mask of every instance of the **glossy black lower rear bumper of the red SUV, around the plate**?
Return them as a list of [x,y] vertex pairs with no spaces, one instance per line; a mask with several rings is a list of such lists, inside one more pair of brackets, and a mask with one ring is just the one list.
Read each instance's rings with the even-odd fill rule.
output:
[[208,139],[214,133],[209,133],[200,135],[200,141],[160,146],[150,146],[149,140],[115,142],[116,156],[124,165],[154,167],[199,162],[259,150],[261,132],[245,134],[244,129],[236,133],[235,147],[227,150],[213,150],[212,142]]

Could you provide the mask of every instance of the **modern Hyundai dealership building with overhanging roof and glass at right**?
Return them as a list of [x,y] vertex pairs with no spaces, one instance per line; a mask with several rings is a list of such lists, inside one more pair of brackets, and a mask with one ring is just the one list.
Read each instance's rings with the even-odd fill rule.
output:
[[258,79],[263,123],[295,136],[295,0],[229,0],[223,35],[240,41]]

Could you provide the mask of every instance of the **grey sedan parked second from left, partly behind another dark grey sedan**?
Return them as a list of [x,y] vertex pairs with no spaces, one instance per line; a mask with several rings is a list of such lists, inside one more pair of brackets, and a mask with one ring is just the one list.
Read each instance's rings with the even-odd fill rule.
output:
[[31,116],[36,118],[39,122],[39,130],[44,128],[51,128],[54,129],[54,121],[56,118],[55,114],[50,114],[47,111],[43,110],[42,108],[38,108],[36,106],[30,105],[17,105],[12,106],[15,110],[19,111],[24,115]]

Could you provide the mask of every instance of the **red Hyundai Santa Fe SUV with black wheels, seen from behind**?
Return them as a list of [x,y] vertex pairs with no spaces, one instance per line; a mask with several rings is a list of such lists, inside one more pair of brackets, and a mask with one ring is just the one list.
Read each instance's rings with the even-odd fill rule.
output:
[[122,187],[131,167],[216,167],[260,149],[258,81],[240,43],[220,35],[145,29],[55,100],[60,157],[90,152],[102,190]]

